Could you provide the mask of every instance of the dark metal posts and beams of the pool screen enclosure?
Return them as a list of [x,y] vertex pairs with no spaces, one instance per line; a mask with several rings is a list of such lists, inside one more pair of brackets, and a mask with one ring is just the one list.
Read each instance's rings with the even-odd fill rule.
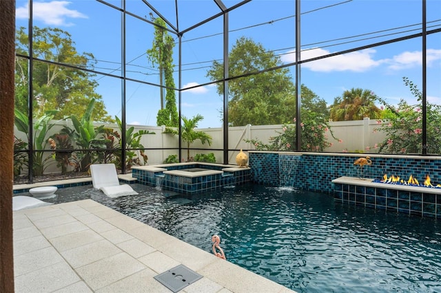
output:
[[[150,23],[152,25],[154,25],[154,23],[152,21],[149,21],[148,19],[145,19],[143,17],[139,17],[135,14],[132,14],[131,12],[128,12],[125,10],[125,0],[121,0],[121,8],[112,5],[112,3],[107,3],[106,1],[102,1],[102,0],[97,0],[99,3],[108,6],[112,9],[118,10],[119,12],[121,12],[122,15],[122,21],[121,21],[121,66],[122,66],[122,74],[121,76],[113,76],[115,78],[121,78],[121,120],[123,122],[123,131],[121,133],[122,135],[122,158],[125,158],[125,153],[126,153],[126,149],[125,149],[125,129],[126,129],[126,82],[131,80],[131,81],[135,81],[137,83],[145,83],[146,85],[153,85],[153,86],[158,86],[156,84],[153,83],[146,83],[146,82],[142,82],[140,80],[134,80],[132,78],[129,78],[126,76],[126,68],[125,68],[125,32],[126,32],[126,26],[125,26],[125,18],[128,14],[130,14],[132,17],[136,17],[142,21],[145,21],[147,23]],[[142,1],[145,6],[148,6],[150,9],[152,9],[153,11],[156,12],[156,14],[158,14],[159,17],[161,17],[160,12],[158,12],[158,10],[156,10],[154,8],[154,6],[150,3],[150,1],[147,0],[140,0]],[[427,19],[426,19],[426,12],[427,12],[427,3],[426,0],[421,0],[421,6],[422,6],[422,15],[421,15],[421,23],[422,23],[422,32],[419,32],[417,34],[411,34],[411,35],[407,35],[407,36],[402,36],[400,38],[397,39],[389,39],[387,41],[382,41],[379,43],[371,43],[369,45],[364,45],[364,46],[360,46],[360,47],[354,47],[351,48],[349,50],[344,50],[344,51],[340,51],[340,52],[334,52],[332,54],[328,54],[325,56],[320,56],[320,57],[316,57],[316,58],[310,58],[307,60],[300,60],[300,48],[301,48],[301,34],[300,34],[300,26],[301,26],[301,18],[300,18],[300,5],[302,3],[301,0],[295,0],[295,6],[296,6],[296,25],[293,28],[293,30],[296,31],[296,61],[294,63],[286,63],[284,65],[278,66],[278,67],[271,67],[271,68],[267,68],[258,72],[251,72],[251,73],[247,73],[247,74],[243,74],[240,76],[229,76],[229,62],[228,62],[228,58],[229,58],[229,12],[232,12],[242,6],[244,6],[246,8],[247,3],[249,3],[251,0],[246,0],[246,1],[241,1],[239,3],[237,3],[236,5],[227,8],[227,6],[224,5],[223,1],[221,0],[214,0],[214,3],[216,4],[216,6],[219,9],[219,12],[217,14],[214,14],[212,17],[209,17],[207,19],[205,19],[204,21],[201,21],[200,23],[197,23],[196,25],[193,25],[190,28],[185,28],[184,30],[179,30],[178,26],[174,27],[174,25],[172,25],[172,21],[167,20],[165,17],[161,17],[163,18],[166,23],[168,25],[170,25],[170,28],[165,28],[167,31],[169,31],[170,33],[176,34],[176,36],[178,37],[178,88],[174,89],[178,92],[178,115],[179,115],[179,120],[181,121],[181,117],[182,117],[182,100],[181,100],[181,96],[182,96],[182,91],[183,89],[183,85],[182,85],[182,56],[181,56],[181,48],[182,48],[182,36],[186,33],[189,32],[191,30],[194,30],[195,28],[198,28],[201,25],[204,25],[205,23],[211,21],[212,19],[216,19],[218,17],[223,17],[223,65],[224,65],[224,78],[221,80],[214,80],[210,83],[204,83],[201,85],[197,85],[195,87],[203,87],[206,85],[212,85],[212,84],[216,84],[216,83],[223,83],[223,87],[224,87],[224,94],[223,94],[223,149],[215,149],[215,151],[223,151],[223,163],[227,164],[228,163],[228,152],[229,151],[237,151],[234,149],[229,149],[228,147],[228,141],[229,141],[229,135],[228,135],[228,101],[229,101],[229,81],[230,80],[234,80],[237,78],[243,78],[246,76],[251,76],[254,74],[260,74],[263,72],[268,72],[271,70],[276,70],[276,69],[280,69],[280,68],[284,68],[284,67],[295,67],[295,72],[296,75],[294,77],[295,80],[295,84],[296,84],[296,131],[297,131],[297,135],[296,135],[296,148],[297,151],[302,151],[301,150],[301,136],[300,136],[300,111],[301,111],[301,103],[300,103],[300,85],[301,85],[301,78],[300,78],[300,72],[301,72],[301,66],[302,64],[308,63],[308,62],[312,62],[312,61],[319,61],[320,59],[324,59],[324,58],[329,58],[331,56],[338,56],[341,54],[347,54],[350,52],[357,52],[360,50],[364,50],[364,49],[369,49],[369,48],[373,48],[373,47],[378,47],[380,45],[386,45],[389,43],[396,43],[396,42],[400,42],[400,41],[404,41],[407,39],[414,39],[414,38],[421,38],[422,39],[422,105],[423,105],[423,109],[422,109],[422,153],[420,155],[427,155],[427,111],[425,108],[425,105],[427,104],[427,62],[426,62],[426,56],[427,56],[427,35],[429,34],[435,34],[435,33],[440,33],[441,29],[435,29],[435,30],[430,30],[427,31]],[[28,23],[28,28],[33,28],[33,17],[32,17],[32,4],[33,4],[34,0],[28,0],[29,3],[29,23]],[[178,8],[179,5],[179,1],[175,0],[174,1],[175,7]],[[179,11],[178,9],[176,10],[176,19],[180,17],[179,15]],[[32,80],[32,65],[34,63],[34,61],[37,61],[36,58],[33,57],[33,50],[32,50],[32,29],[29,30],[29,36],[30,36],[30,40],[29,40],[29,54],[28,56],[24,56],[24,55],[19,55],[17,54],[17,57],[20,58],[25,58],[28,59],[29,61],[29,80]],[[103,72],[99,72],[99,71],[94,71],[94,70],[89,70],[89,69],[83,69],[83,68],[78,68],[72,65],[66,65],[64,63],[55,63],[53,61],[44,61],[44,60],[38,60],[39,62],[45,62],[45,63],[52,63],[52,64],[57,64],[57,65],[62,65],[64,67],[72,67],[72,68],[76,68],[76,69],[81,69],[81,70],[85,70],[85,71],[89,71],[93,74],[102,74],[102,75],[109,75],[112,76],[112,74],[105,74]],[[191,89],[191,87],[187,87],[186,89]],[[30,121],[32,121],[32,117],[33,117],[33,113],[32,113],[32,102],[34,100],[34,97],[32,96],[32,83],[29,83],[29,89],[28,89],[28,101],[29,101],[29,111],[28,111],[28,118]],[[179,133],[181,133],[181,124],[179,126]],[[30,140],[32,140],[32,124],[30,125]],[[32,165],[32,153],[35,151],[34,149],[32,149],[32,141],[29,142],[28,144],[29,148],[28,148],[28,162],[30,164],[30,166]],[[146,148],[149,149],[149,148]],[[178,153],[179,153],[179,160],[181,161],[181,153],[182,150],[185,149],[183,148],[182,144],[181,144],[181,137],[178,140]],[[50,150],[48,150],[50,151]],[[122,164],[122,169],[121,169],[122,173],[126,173],[125,170],[125,164]],[[32,182],[32,168],[29,168],[29,179],[30,182]]]

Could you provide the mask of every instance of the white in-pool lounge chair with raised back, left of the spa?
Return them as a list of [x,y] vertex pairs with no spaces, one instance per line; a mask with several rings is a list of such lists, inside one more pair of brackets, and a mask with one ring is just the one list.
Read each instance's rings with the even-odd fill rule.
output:
[[100,189],[108,197],[120,197],[124,195],[137,195],[132,186],[119,184],[115,164],[92,164],[90,175],[94,188]]

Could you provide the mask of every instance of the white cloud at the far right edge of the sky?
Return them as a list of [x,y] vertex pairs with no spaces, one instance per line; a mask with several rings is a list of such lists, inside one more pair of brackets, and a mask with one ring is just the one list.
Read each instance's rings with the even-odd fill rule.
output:
[[[426,61],[428,66],[433,65],[436,61],[441,61],[441,50],[428,49]],[[393,56],[387,62],[389,63],[389,69],[393,70],[420,67],[422,65],[422,52],[402,52]]]

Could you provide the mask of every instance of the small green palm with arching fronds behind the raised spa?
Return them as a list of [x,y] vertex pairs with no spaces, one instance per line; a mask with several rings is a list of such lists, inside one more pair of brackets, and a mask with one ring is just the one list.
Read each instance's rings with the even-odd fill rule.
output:
[[[190,144],[192,144],[195,140],[201,140],[202,144],[207,142],[208,145],[212,145],[212,137],[204,131],[195,130],[195,128],[198,127],[198,122],[203,120],[203,116],[201,116],[201,114],[193,116],[191,119],[182,116],[182,120],[183,125],[181,127],[181,138],[184,142],[187,142],[187,162],[189,162]],[[164,133],[172,133],[173,135],[179,134],[178,130],[172,127],[165,127]]]

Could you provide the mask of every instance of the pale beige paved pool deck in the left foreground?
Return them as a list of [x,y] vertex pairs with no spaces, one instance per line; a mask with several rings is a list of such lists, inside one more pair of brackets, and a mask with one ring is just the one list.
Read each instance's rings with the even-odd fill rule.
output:
[[[15,292],[172,292],[154,276],[203,276],[180,292],[294,292],[92,199],[14,211]],[[207,239],[211,241],[211,239]]]

